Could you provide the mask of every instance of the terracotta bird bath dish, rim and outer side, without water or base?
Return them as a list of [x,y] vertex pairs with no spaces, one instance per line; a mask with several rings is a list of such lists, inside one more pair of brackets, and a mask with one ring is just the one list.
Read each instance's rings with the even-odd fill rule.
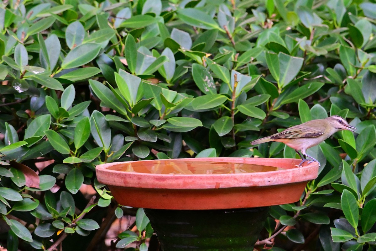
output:
[[[115,200],[131,207],[170,210],[211,210],[266,207],[299,200],[318,163],[303,164],[288,158],[185,158],[176,161],[216,161],[261,164],[284,170],[229,174],[152,174],[108,170],[128,162],[100,164],[97,179],[106,184]],[[153,161],[153,160],[141,160]],[[156,161],[156,160],[154,160]]]

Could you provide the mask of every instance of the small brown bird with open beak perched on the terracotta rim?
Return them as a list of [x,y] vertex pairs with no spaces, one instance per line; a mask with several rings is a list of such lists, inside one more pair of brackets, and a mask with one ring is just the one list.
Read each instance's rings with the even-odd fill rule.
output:
[[[343,117],[334,115],[326,119],[315,119],[300,125],[291,126],[282,132],[254,140],[251,144],[257,145],[269,141],[285,143],[293,148],[297,154],[299,154],[300,158],[302,158],[303,161],[299,164],[299,166],[301,166],[304,161],[309,160],[306,157],[311,159],[309,163],[313,161],[318,162],[315,158],[306,154],[308,148],[320,144],[335,132],[342,130],[355,132],[354,130],[356,130],[356,128],[350,126]],[[302,152],[302,154],[300,154],[299,151]],[[320,163],[318,164],[320,166]]]

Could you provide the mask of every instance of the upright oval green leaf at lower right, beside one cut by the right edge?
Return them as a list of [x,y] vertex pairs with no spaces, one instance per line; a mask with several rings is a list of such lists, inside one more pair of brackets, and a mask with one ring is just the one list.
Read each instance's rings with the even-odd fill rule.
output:
[[343,190],[341,195],[341,207],[347,221],[353,228],[358,227],[359,210],[355,196],[349,190]]

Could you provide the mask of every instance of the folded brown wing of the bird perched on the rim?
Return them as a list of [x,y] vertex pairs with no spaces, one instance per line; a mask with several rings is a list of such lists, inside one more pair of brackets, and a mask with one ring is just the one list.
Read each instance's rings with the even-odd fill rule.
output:
[[317,137],[321,134],[324,134],[324,130],[319,130],[314,125],[296,125],[286,130],[280,132],[279,134],[273,135],[271,139],[277,138],[309,138],[309,137]]

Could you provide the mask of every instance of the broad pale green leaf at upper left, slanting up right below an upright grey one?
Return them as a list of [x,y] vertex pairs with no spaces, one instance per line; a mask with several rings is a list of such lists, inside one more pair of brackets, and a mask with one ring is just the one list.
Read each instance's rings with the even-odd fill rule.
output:
[[96,43],[86,43],[74,47],[61,63],[61,68],[75,68],[91,62],[99,54],[101,45]]

